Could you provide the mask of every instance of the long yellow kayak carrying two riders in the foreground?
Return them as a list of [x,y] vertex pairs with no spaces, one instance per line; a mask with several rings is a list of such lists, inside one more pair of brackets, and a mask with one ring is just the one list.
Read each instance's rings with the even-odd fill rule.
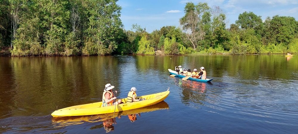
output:
[[103,102],[95,102],[89,103],[84,105],[76,105],[72,107],[66,107],[62,109],[58,109],[54,111],[51,115],[53,117],[65,117],[65,116],[86,116],[86,115],[96,115],[96,114],[106,114],[106,113],[114,113],[126,110],[132,110],[136,108],[150,106],[159,102],[162,102],[170,93],[170,88],[167,91],[156,93],[156,94],[149,94],[144,96],[137,96],[136,98],[145,100],[126,103],[127,98],[122,99],[123,104],[102,107]]

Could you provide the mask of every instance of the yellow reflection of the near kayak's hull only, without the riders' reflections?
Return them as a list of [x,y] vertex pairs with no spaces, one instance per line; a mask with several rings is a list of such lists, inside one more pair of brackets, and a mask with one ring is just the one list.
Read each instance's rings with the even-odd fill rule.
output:
[[115,113],[115,115],[113,113],[109,113],[109,114],[100,114],[100,115],[92,115],[92,116],[53,117],[52,123],[54,127],[64,127],[68,125],[82,124],[85,121],[98,122],[98,121],[104,121],[106,119],[111,119],[119,116],[127,116],[129,114],[138,114],[138,113],[145,113],[145,112],[148,113],[148,112],[152,112],[155,110],[162,110],[162,109],[169,109],[169,105],[167,104],[167,102],[162,101],[147,107],[117,112]]

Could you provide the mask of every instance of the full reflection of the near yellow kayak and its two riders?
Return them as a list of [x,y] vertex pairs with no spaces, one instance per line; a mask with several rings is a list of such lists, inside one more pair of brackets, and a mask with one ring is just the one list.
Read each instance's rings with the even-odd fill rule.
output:
[[136,114],[139,115],[140,113],[152,112],[155,110],[162,110],[162,109],[169,109],[169,105],[162,101],[155,105],[142,107],[134,110],[122,111],[117,113],[110,113],[110,114],[100,114],[100,115],[93,115],[93,116],[70,116],[70,117],[53,117],[52,124],[54,127],[65,127],[69,125],[77,125],[82,124],[84,122],[100,122],[103,121],[103,124],[96,125],[91,127],[90,129],[102,128],[109,132],[114,130],[114,125],[117,124],[116,117],[118,119],[121,116],[128,116],[130,122],[134,122],[136,120]]

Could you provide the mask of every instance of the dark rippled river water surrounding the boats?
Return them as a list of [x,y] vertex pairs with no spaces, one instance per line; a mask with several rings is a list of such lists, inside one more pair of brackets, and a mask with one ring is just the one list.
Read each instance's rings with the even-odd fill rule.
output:
[[[169,77],[207,70],[210,83]],[[53,118],[60,108],[166,91],[159,104],[122,113]],[[298,56],[0,57],[0,133],[297,133]],[[140,113],[140,116],[138,115]],[[128,115],[136,117],[131,121]],[[112,125],[109,125],[112,124]],[[105,126],[104,126],[105,125]]]

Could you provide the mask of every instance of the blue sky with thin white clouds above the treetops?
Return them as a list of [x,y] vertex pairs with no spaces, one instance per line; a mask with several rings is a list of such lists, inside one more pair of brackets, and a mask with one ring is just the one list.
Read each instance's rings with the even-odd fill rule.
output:
[[137,24],[151,33],[164,26],[180,27],[187,2],[206,2],[209,7],[220,7],[227,18],[227,28],[235,24],[239,14],[253,12],[264,21],[275,15],[294,17],[298,21],[298,0],[119,0],[122,7],[120,19],[125,30]]

